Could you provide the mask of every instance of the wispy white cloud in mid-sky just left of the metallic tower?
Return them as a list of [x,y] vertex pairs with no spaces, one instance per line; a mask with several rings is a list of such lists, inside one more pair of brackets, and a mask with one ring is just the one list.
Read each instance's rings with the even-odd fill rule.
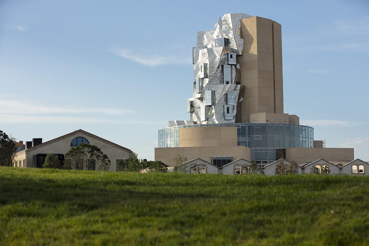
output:
[[145,66],[160,66],[168,64],[190,64],[190,58],[183,55],[173,54],[173,55],[155,55],[149,53],[139,53],[131,51],[129,49],[114,49],[111,50],[115,55],[121,56],[125,59],[132,60],[134,62],[140,63]]

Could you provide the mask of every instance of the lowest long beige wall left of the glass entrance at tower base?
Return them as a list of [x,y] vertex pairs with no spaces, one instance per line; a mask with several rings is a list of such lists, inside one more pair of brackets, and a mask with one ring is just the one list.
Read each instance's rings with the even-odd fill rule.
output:
[[177,155],[187,157],[187,161],[199,157],[210,163],[212,156],[233,156],[233,160],[244,158],[251,161],[251,149],[246,146],[155,148],[155,160],[171,166],[175,164],[173,158]]

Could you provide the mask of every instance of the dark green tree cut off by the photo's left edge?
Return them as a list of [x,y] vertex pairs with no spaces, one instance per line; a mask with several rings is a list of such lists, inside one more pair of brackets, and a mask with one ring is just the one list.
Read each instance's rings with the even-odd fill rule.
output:
[[0,166],[13,166],[14,156],[17,153],[15,138],[0,130]]

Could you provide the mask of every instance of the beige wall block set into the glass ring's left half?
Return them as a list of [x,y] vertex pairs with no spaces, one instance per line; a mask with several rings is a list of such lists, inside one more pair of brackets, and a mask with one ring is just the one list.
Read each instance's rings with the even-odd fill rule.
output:
[[237,127],[179,128],[179,147],[237,146]]

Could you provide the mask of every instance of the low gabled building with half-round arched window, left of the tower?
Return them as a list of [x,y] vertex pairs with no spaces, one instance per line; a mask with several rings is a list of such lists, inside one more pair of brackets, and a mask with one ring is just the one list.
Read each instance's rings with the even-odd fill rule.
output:
[[116,171],[118,161],[128,159],[132,154],[132,150],[83,131],[82,129],[44,143],[42,143],[42,138],[32,139],[32,142],[33,144],[30,148],[15,154],[15,167],[42,167],[47,154],[57,155],[63,163],[64,156],[70,148],[79,146],[80,143],[90,143],[99,147],[110,159],[110,171]]

